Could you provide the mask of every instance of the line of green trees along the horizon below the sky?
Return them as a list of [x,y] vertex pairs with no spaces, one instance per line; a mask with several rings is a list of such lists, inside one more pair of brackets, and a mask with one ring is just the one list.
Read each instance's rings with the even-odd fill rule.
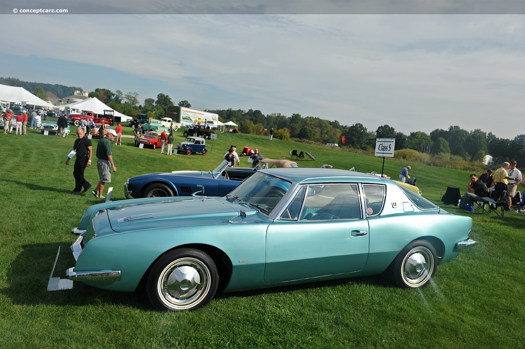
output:
[[[44,89],[53,91],[57,96],[65,93],[65,91],[82,90],[77,87],[68,88],[56,84],[27,83],[15,78],[0,78],[0,83],[22,86],[26,89],[33,87],[33,89],[29,88],[28,90],[33,91],[38,97],[45,95]],[[165,117],[167,107],[174,105],[172,99],[164,93],[159,93],[156,99],[146,98],[142,104],[140,104],[137,92],[124,94],[120,90],[113,92],[109,89],[97,88],[90,92],[88,97],[96,97],[125,115],[134,116],[143,113],[155,119]],[[177,105],[191,108],[191,104],[187,100],[180,101]],[[239,131],[243,133],[262,135],[270,129],[274,129],[274,137],[282,140],[292,139],[321,144],[338,143],[343,148],[348,147],[366,152],[374,149],[376,138],[395,138],[395,150],[408,149],[429,156],[468,162],[481,162],[485,155],[490,154],[496,164],[509,160],[516,160],[518,164],[525,164],[525,134],[520,134],[512,140],[501,139],[491,132],[487,134],[479,129],[467,131],[459,126],[451,125],[447,130],[436,129],[430,134],[415,131],[407,135],[396,131],[387,124],[378,126],[376,130],[368,130],[359,122],[353,125],[341,125],[337,120],[329,121],[317,117],[302,117],[297,113],[288,117],[280,113],[265,115],[260,110],[253,109],[245,111],[230,108],[205,111],[218,114],[219,120],[222,122],[235,122],[239,125]]]

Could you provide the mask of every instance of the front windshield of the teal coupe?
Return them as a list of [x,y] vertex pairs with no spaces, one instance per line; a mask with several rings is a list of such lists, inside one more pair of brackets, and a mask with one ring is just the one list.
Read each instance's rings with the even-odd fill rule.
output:
[[269,215],[290,187],[291,182],[285,179],[257,172],[245,179],[227,197],[249,204]]

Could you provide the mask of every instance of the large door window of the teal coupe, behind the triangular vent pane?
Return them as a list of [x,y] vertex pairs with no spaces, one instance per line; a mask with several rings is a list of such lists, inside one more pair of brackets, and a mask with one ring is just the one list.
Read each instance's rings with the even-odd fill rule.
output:
[[360,219],[361,204],[356,184],[310,185],[301,220]]

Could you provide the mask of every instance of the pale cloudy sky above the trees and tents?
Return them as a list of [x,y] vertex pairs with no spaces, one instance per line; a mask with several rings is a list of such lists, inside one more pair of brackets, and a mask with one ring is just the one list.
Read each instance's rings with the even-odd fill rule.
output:
[[14,28],[0,37],[2,77],[138,92],[141,102],[165,93],[194,109],[299,113],[371,131],[525,133],[522,14],[335,14],[336,6],[15,15],[9,2],[0,11],[3,27]]

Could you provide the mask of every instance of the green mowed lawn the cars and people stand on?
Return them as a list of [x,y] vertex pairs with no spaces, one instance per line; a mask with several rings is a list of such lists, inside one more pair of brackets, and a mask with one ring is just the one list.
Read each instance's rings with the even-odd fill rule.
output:
[[[218,294],[205,308],[181,313],[154,311],[142,290],[110,292],[75,283],[72,290],[47,292],[58,248],[54,276],[64,277],[74,265],[71,228],[97,203],[89,192],[71,193],[73,167],[65,161],[75,129],[66,138],[34,130],[0,133],[0,348],[525,347],[525,215],[501,218],[442,205],[447,186],[465,191],[469,173],[415,163],[410,174],[423,195],[450,213],[473,217],[472,238],[479,242],[439,266],[425,289],[398,289],[382,276],[354,278]],[[175,145],[182,140],[178,131]],[[239,152],[257,147],[269,158],[289,157],[294,149],[311,152],[316,160],[298,160],[302,167],[381,172],[382,166],[379,157],[246,134],[219,133],[207,141],[206,156],[161,155],[125,138],[113,146],[112,199],[125,198],[123,184],[134,175],[212,170],[230,145]],[[241,165],[250,165],[246,157]],[[395,178],[406,165],[387,159],[385,173]],[[86,177],[94,187],[96,166],[87,168]]]

